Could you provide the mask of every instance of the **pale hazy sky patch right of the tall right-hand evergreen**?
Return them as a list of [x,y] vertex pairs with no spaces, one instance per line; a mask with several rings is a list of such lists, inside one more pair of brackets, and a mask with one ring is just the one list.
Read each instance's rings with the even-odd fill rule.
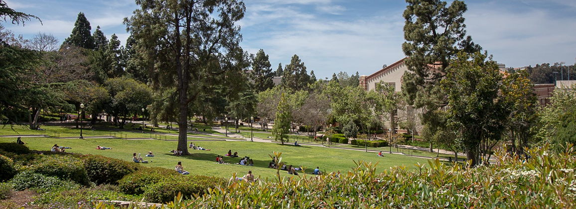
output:
[[506,66],[571,61],[576,56],[576,18],[558,18],[545,9],[510,12],[469,5],[468,35]]

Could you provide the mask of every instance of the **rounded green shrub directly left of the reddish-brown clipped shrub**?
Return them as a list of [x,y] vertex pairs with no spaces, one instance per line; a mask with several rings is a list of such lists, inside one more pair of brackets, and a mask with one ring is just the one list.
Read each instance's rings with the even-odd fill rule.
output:
[[28,170],[46,176],[71,180],[81,185],[89,185],[88,174],[81,159],[71,155],[46,155],[36,159]]

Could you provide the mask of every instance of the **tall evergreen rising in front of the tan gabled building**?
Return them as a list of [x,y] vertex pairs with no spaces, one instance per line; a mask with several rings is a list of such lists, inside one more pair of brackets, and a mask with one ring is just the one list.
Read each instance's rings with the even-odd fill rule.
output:
[[[404,10],[404,54],[408,70],[402,79],[402,93],[408,105],[434,110],[447,104],[439,82],[445,78],[450,59],[457,52],[480,51],[466,36],[463,14],[467,6],[453,1],[407,0]],[[433,66],[433,67],[430,67]],[[431,111],[430,111],[431,112]]]

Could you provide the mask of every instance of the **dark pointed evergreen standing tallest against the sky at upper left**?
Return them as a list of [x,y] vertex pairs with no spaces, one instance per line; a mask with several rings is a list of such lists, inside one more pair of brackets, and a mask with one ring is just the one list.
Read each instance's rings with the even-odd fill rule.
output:
[[84,13],[80,12],[78,18],[74,23],[74,29],[72,29],[72,34],[70,37],[64,40],[64,44],[74,45],[77,47],[86,48],[89,50],[94,49],[94,37],[90,34],[92,27],[90,22],[84,16]]

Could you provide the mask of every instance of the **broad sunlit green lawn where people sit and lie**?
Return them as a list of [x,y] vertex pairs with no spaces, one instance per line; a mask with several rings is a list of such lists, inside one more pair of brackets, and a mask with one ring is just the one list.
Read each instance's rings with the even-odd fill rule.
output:
[[[0,142],[14,142],[15,138],[0,138]],[[208,176],[230,177],[233,173],[244,175],[248,170],[252,170],[256,176],[275,177],[275,170],[267,168],[270,162],[268,154],[272,151],[282,152],[282,161],[294,166],[306,166],[306,173],[311,173],[316,166],[326,172],[342,172],[350,170],[354,166],[353,160],[379,162],[380,170],[388,169],[391,166],[405,165],[411,166],[416,162],[425,164],[427,159],[408,157],[404,155],[390,154],[385,157],[377,157],[375,153],[365,153],[354,150],[328,149],[325,147],[313,146],[291,146],[279,145],[276,143],[259,143],[249,141],[239,142],[196,142],[197,146],[202,146],[211,151],[190,150],[192,155],[185,157],[175,157],[170,150],[176,149],[177,142],[164,140],[123,140],[123,139],[55,139],[55,138],[23,138],[27,146],[32,150],[50,150],[54,144],[59,146],[72,147],[67,150],[82,154],[99,154],[107,157],[125,159],[130,161],[132,153],[145,155],[148,151],[153,151],[156,157],[145,157],[150,162],[142,164],[144,166],[162,167],[173,169],[178,161],[182,161],[184,168],[192,174],[203,174]],[[96,146],[112,147],[112,150],[96,150]],[[240,161],[240,158],[225,157],[226,162],[231,165],[215,164],[217,155],[224,155],[228,150],[238,151],[240,157],[249,156],[254,160],[255,166],[232,165]],[[282,176],[290,176],[286,172],[281,172]]]

